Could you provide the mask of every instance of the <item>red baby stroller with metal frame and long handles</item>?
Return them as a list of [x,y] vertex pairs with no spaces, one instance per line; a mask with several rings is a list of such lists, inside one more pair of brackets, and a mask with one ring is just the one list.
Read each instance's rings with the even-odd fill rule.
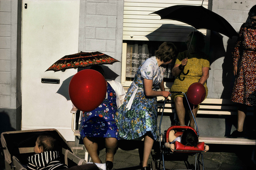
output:
[[[184,94],[186,101],[188,102],[188,99],[187,99],[185,93],[177,92],[177,91],[170,91],[170,92]],[[164,100],[164,106],[165,106],[165,102],[166,102],[166,99]],[[188,154],[195,155],[195,166],[193,168],[194,170],[200,170],[201,169],[200,167],[202,167],[202,170],[204,170],[204,160],[203,160],[203,155],[202,155],[202,152],[204,152],[204,142],[198,143],[197,147],[194,147],[194,146],[184,146],[183,144],[179,143],[178,141],[175,141],[175,143],[174,143],[175,149],[173,152],[171,151],[171,149],[165,148],[164,143],[169,142],[169,132],[171,130],[175,129],[177,131],[174,134],[176,137],[181,136],[183,131],[185,131],[186,129],[192,129],[193,131],[195,131],[197,136],[199,136],[199,131],[198,131],[197,122],[195,120],[195,117],[192,114],[194,122],[195,122],[195,127],[197,130],[195,130],[189,126],[174,125],[174,126],[169,127],[169,129],[167,129],[166,134],[162,133],[161,123],[162,123],[162,118],[163,118],[163,114],[164,114],[164,106],[163,106],[162,115],[161,115],[160,124],[159,124],[160,158],[159,158],[159,160],[156,161],[156,163],[154,161],[152,161],[151,169],[152,170],[156,170],[156,169],[157,170],[165,170],[164,155],[170,155],[170,154],[175,154],[175,153],[184,153],[187,155]],[[190,112],[192,113],[192,110],[191,110],[189,104],[188,104],[188,106],[189,106]],[[200,157],[201,157],[202,161],[200,161]]]

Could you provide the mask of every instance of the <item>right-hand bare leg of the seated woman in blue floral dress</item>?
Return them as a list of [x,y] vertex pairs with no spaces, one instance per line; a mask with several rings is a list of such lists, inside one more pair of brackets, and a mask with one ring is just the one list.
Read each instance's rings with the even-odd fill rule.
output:
[[117,149],[117,139],[114,137],[105,138],[106,161],[114,161],[115,151]]

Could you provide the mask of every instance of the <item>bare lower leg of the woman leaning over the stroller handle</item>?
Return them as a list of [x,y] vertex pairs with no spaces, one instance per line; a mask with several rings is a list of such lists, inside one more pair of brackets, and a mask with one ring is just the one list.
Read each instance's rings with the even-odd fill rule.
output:
[[144,151],[143,151],[143,160],[142,160],[142,167],[148,166],[148,158],[152,151],[152,147],[154,144],[154,140],[150,136],[144,137]]

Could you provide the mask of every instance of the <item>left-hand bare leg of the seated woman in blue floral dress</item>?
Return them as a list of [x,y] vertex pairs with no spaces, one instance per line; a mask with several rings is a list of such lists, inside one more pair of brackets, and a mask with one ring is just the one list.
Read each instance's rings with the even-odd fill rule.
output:
[[88,151],[89,155],[92,158],[92,162],[101,163],[101,160],[99,159],[99,155],[97,153],[98,143],[95,142],[95,138],[84,137],[83,141],[84,141],[84,146],[85,146],[86,150]]

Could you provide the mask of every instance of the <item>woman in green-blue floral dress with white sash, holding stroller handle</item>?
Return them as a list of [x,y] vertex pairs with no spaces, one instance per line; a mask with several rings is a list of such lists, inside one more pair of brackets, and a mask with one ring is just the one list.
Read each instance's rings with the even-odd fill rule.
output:
[[[120,137],[144,137],[143,170],[149,169],[148,158],[157,140],[157,96],[167,98],[170,95],[164,88],[164,68],[161,66],[171,63],[176,55],[174,44],[162,43],[155,52],[156,57],[148,58],[139,66],[124,103],[115,115]],[[156,91],[156,86],[161,91]]]

